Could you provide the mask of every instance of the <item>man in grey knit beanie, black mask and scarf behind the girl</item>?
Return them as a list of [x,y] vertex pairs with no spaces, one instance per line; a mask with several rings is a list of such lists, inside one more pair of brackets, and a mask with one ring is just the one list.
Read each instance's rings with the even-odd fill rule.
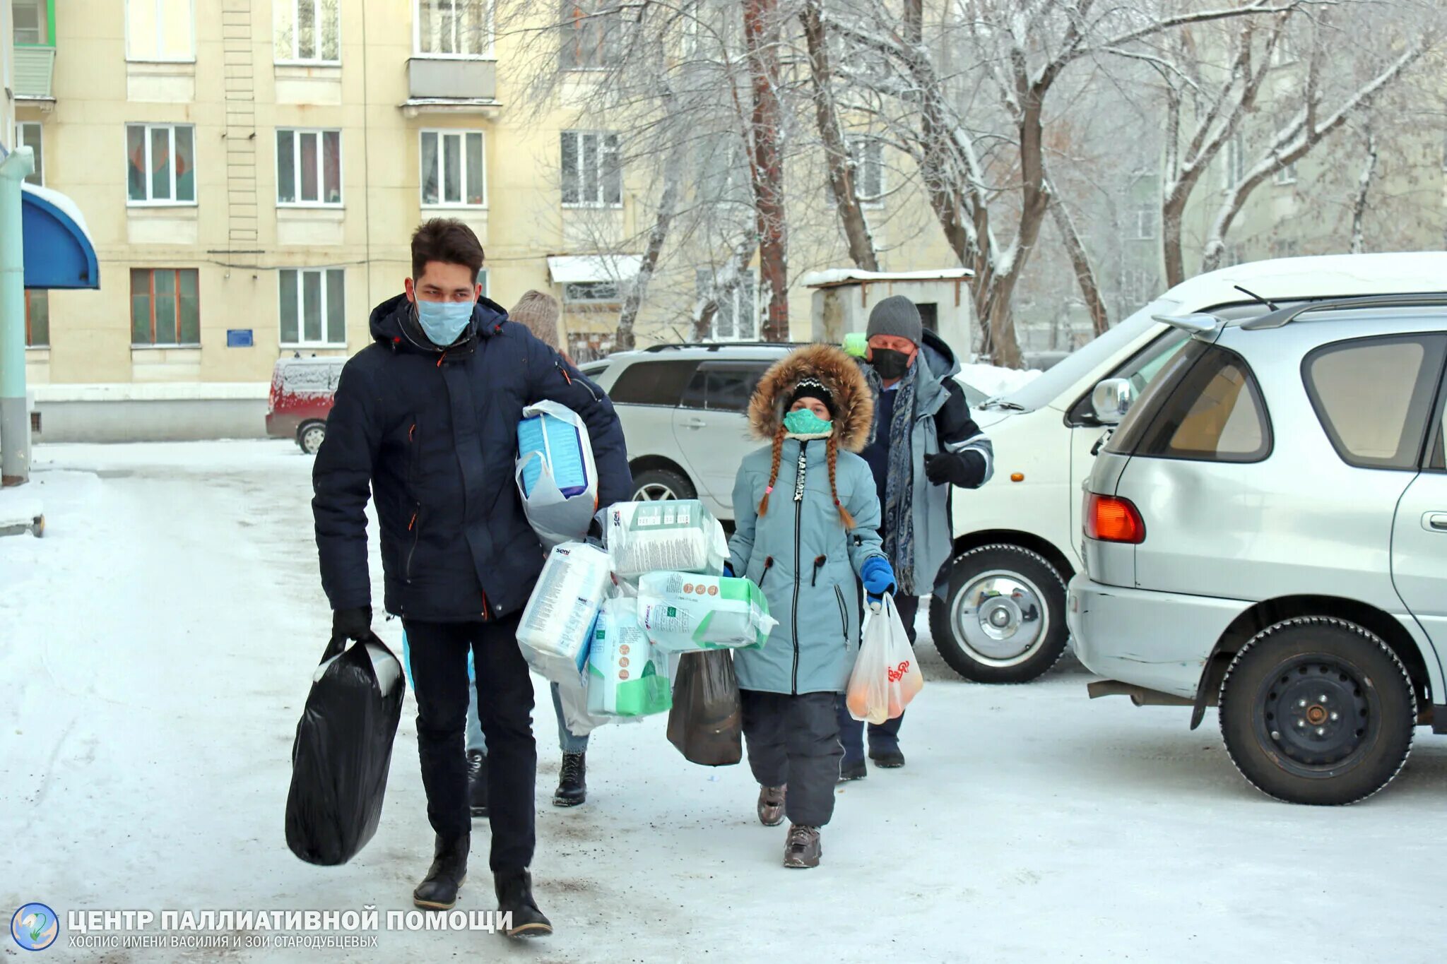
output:
[[[883,509],[880,535],[899,582],[894,606],[913,645],[919,597],[935,591],[935,578],[954,551],[949,490],[987,483],[994,452],[955,380],[955,353],[925,330],[915,302],[903,295],[881,301],[870,312],[867,335],[870,348],[861,369],[874,395],[874,441],[864,460],[874,473]],[[899,741],[903,721],[900,715],[870,724],[875,766],[904,766]],[[862,779],[864,723],[851,717],[842,701],[839,733],[839,779]]]

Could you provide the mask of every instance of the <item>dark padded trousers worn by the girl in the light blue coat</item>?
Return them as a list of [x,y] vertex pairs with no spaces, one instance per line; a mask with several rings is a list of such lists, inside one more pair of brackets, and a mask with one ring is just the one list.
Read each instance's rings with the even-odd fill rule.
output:
[[[748,766],[761,786],[789,786],[792,824],[823,827],[833,817],[839,782],[839,720],[832,692],[741,689]],[[838,700],[838,702],[844,702]]]

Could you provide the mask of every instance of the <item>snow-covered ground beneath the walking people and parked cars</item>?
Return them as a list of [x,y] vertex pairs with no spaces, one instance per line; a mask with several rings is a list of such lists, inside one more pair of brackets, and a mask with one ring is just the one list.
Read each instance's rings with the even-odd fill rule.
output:
[[[311,461],[287,442],[216,442],[41,447],[36,464],[45,538],[0,539],[6,916],[30,900],[62,918],[411,909],[431,854],[411,705],[366,850],[313,867],[282,835],[292,734],[330,619]],[[396,623],[381,632],[398,642]],[[780,867],[784,830],[754,819],[747,767],[686,763],[661,718],[599,730],[587,804],[550,806],[557,750],[540,685],[534,874],[557,934],[505,948],[486,934],[383,932],[352,960],[1441,958],[1447,740],[1422,733],[1365,804],[1288,806],[1240,780],[1214,715],[1191,733],[1182,710],[1091,702],[1069,660],[993,688],[955,678],[928,636],[920,653],[909,766],[839,789],[812,872]],[[473,832],[460,909],[493,906],[488,830]],[[182,957],[65,941],[62,928],[55,960]]]

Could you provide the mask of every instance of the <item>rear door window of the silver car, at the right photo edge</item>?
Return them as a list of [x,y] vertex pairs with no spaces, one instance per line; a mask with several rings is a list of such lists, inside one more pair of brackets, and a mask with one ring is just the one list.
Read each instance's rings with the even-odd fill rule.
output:
[[1356,338],[1301,364],[1307,395],[1337,455],[1360,468],[1415,470],[1447,335]]

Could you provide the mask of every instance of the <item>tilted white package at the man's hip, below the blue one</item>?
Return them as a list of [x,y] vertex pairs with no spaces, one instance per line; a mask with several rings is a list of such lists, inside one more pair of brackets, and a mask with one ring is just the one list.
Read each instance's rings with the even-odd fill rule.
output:
[[567,542],[548,554],[518,623],[518,646],[534,672],[551,681],[582,676],[593,620],[611,584],[602,549]]

